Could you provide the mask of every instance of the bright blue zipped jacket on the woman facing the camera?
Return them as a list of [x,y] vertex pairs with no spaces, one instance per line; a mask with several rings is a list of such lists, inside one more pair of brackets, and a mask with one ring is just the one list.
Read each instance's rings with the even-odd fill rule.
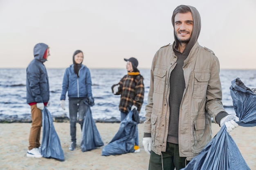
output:
[[92,97],[91,74],[85,65],[81,65],[79,77],[74,72],[74,64],[66,68],[62,83],[61,100],[66,99],[67,91],[69,98]]

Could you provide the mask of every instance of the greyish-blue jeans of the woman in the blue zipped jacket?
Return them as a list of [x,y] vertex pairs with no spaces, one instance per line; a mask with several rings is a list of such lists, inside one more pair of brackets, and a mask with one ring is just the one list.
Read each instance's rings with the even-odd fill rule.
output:
[[70,109],[70,136],[71,141],[76,142],[76,122],[78,113],[78,123],[81,125],[81,130],[83,129],[83,120],[85,113],[87,112],[88,106],[85,105],[84,99],[69,100]]

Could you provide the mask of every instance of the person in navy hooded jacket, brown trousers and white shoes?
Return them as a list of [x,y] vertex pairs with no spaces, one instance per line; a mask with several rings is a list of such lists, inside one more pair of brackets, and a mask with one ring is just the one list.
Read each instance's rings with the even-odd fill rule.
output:
[[27,67],[27,103],[31,107],[32,119],[27,157],[42,157],[38,149],[42,127],[42,110],[49,103],[50,96],[48,75],[43,63],[47,61],[49,55],[49,47],[46,44],[36,44],[34,59]]

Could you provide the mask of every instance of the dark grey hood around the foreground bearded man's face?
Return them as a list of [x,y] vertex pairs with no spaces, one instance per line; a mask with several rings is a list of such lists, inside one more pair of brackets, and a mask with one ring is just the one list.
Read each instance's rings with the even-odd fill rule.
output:
[[[195,7],[191,7],[189,5],[180,5],[173,11],[173,16],[172,16],[172,24],[173,24],[173,28],[174,28],[175,16],[178,13],[188,13],[188,12],[191,12],[192,17],[193,17],[193,31],[192,31],[192,34],[191,34],[191,38],[190,38],[188,44],[186,45],[186,48],[182,52],[182,54],[187,54],[187,55],[189,54],[191,48],[194,46],[194,44],[198,40],[198,37],[199,37],[199,34],[200,34],[200,30],[201,30],[200,14],[199,14],[198,10]],[[175,29],[174,29],[174,39],[175,39],[175,49],[177,50],[177,46],[178,46],[179,41],[178,41],[178,39],[175,35]]]

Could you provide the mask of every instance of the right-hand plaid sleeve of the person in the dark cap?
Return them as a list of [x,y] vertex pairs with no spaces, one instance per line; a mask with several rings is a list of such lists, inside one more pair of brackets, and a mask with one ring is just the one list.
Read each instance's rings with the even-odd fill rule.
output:
[[133,100],[133,105],[135,105],[137,108],[141,108],[144,100],[144,83],[142,76],[140,76],[140,79],[135,86],[135,94],[136,96]]

